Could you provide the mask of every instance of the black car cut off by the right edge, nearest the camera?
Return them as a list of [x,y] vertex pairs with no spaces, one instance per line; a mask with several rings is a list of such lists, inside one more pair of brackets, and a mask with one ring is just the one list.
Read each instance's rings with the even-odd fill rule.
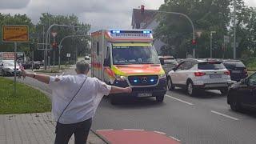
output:
[[227,103],[234,111],[256,108],[256,73],[230,86]]

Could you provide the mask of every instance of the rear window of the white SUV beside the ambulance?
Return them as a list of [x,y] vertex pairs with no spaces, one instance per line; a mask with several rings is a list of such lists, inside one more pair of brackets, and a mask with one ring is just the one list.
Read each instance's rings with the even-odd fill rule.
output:
[[225,66],[222,62],[201,62],[198,63],[199,70],[223,70]]

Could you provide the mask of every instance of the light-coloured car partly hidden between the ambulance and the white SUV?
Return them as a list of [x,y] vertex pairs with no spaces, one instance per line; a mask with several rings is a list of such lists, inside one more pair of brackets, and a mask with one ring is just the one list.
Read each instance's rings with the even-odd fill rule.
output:
[[162,64],[162,68],[163,68],[163,70],[165,70],[166,74],[168,74],[169,71],[172,70],[174,67],[178,66],[178,62],[172,56],[159,57],[159,60]]

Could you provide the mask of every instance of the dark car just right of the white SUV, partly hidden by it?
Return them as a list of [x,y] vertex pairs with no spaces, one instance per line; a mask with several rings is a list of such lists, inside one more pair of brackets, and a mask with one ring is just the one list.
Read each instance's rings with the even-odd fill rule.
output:
[[246,66],[239,60],[223,60],[226,69],[230,71],[232,81],[240,82],[241,79],[248,77]]

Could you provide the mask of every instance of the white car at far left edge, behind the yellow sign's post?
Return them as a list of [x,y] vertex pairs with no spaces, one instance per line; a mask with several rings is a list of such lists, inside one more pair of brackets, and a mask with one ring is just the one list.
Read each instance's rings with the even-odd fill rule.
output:
[[[0,62],[0,72],[2,74],[2,76],[7,76],[7,75],[14,75],[14,61],[10,61],[10,60],[3,60],[2,62]],[[19,68],[18,63],[16,63],[16,74],[20,74],[21,70]]]

